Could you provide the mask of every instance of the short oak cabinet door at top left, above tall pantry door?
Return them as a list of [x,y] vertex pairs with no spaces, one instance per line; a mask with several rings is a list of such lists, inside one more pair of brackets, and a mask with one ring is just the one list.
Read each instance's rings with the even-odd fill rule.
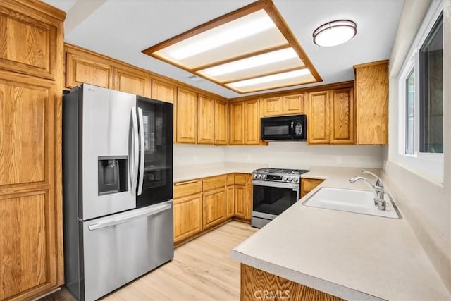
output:
[[59,60],[55,58],[62,24],[58,18],[30,7],[35,2],[1,1],[0,68],[54,80],[58,77]]

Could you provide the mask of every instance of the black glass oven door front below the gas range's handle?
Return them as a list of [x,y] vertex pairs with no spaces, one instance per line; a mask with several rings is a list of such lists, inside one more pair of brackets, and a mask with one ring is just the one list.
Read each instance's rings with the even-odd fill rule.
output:
[[297,192],[292,188],[254,185],[252,211],[278,215],[296,201]]

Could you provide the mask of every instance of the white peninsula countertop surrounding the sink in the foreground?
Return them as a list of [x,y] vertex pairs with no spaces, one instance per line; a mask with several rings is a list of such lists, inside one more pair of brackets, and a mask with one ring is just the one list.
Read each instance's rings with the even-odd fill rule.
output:
[[[361,171],[311,167],[302,177],[369,190],[347,181],[371,179]],[[235,247],[232,259],[347,300],[451,300],[405,219],[302,205],[317,189]]]

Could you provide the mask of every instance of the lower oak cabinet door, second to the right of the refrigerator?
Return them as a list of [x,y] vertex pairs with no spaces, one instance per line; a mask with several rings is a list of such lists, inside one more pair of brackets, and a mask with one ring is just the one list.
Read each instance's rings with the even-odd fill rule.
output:
[[226,188],[204,192],[202,197],[204,229],[226,220]]

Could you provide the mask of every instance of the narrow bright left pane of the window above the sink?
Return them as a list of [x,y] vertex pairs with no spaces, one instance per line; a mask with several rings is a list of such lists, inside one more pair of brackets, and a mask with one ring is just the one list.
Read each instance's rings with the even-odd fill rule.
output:
[[415,73],[410,71],[406,79],[406,154],[414,154],[415,127]]

